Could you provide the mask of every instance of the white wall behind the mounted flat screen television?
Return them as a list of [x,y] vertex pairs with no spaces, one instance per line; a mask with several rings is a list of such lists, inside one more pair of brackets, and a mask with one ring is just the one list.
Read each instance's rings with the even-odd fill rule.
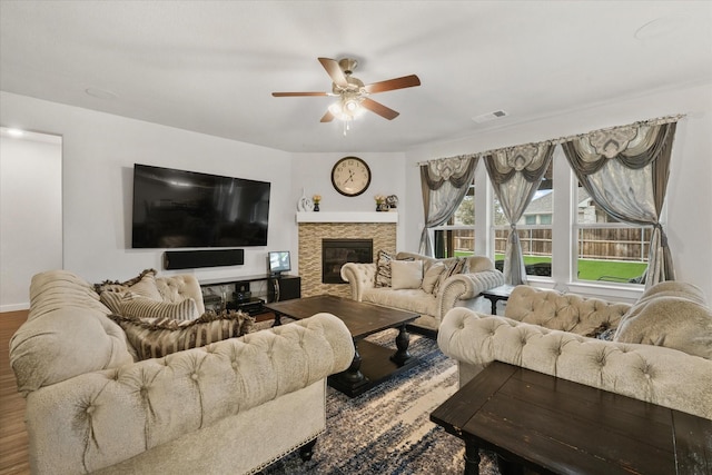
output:
[[135,162],[271,182],[268,245],[246,247],[244,266],[196,269],[198,278],[265,274],[268,249],[291,248],[288,154],[7,92],[0,101],[0,125],[63,137],[63,268],[85,279],[171,273],[162,249],[131,249]]

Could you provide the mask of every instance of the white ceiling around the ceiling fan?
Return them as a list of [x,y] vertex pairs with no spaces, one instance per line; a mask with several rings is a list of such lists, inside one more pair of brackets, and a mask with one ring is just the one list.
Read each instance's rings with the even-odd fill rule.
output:
[[[1,0],[0,20],[3,91],[295,152],[405,151],[712,82],[711,1]],[[345,56],[365,83],[422,86],[373,96],[400,116],[346,137],[319,122],[333,98],[271,97],[330,90],[317,57]]]

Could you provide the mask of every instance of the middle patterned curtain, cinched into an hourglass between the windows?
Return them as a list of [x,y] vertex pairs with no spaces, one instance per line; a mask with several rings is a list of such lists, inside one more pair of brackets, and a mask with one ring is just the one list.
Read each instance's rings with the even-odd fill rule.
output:
[[504,258],[506,284],[527,283],[516,222],[538,189],[553,152],[552,142],[540,142],[494,150],[484,156],[490,180],[511,227]]

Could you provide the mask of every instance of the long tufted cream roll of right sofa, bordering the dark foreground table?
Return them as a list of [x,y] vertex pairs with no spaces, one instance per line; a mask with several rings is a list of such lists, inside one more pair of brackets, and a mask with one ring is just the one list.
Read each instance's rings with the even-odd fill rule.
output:
[[498,360],[712,419],[712,360],[675,349],[586,338],[465,308],[447,313],[437,343],[461,369]]

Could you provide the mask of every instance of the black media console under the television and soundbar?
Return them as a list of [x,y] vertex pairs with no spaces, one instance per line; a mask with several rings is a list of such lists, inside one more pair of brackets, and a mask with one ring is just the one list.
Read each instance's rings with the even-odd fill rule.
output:
[[269,303],[301,297],[301,278],[286,274],[280,276],[261,274],[257,276],[205,279],[200,280],[200,287],[235,286],[235,291],[225,296],[227,307],[253,314],[261,311],[261,306],[265,303],[261,298],[251,296],[250,284],[257,281],[267,283],[267,301]]

